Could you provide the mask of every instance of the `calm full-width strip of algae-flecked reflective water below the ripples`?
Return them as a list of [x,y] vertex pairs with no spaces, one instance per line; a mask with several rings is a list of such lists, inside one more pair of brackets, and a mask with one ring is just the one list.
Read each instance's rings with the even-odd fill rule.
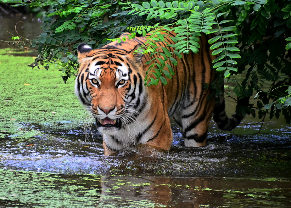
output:
[[222,208],[291,206],[286,179],[56,175],[0,169],[0,206]]

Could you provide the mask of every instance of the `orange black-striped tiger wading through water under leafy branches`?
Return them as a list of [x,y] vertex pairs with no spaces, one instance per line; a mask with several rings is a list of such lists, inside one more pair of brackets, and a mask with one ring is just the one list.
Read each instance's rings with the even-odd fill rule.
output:
[[[165,41],[156,42],[161,52],[162,47],[167,47],[165,42],[175,44],[171,37],[176,37],[174,31],[162,34]],[[199,52],[190,51],[180,59],[168,47],[177,61],[176,65],[169,62],[175,75],[171,79],[162,75],[166,85],[159,82],[150,86],[144,84],[147,62],[163,57],[138,50],[148,41],[149,33],[132,39],[128,35],[124,33],[121,41],[97,49],[85,43],[77,47],[80,67],[75,92],[96,120],[103,137],[104,155],[140,143],[169,150],[173,142],[170,117],[180,128],[187,147],[206,145],[212,116],[219,128],[228,131],[241,122],[243,115],[234,113],[228,118],[224,96],[220,95],[219,102],[215,102],[211,87],[206,87],[215,78],[210,35],[202,33],[198,37]],[[155,78],[152,74],[150,77]]]

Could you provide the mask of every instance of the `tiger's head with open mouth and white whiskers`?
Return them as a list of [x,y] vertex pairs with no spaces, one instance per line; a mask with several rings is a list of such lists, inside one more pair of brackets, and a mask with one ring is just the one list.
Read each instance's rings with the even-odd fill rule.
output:
[[144,96],[140,47],[106,45],[92,49],[85,43],[78,48],[80,63],[75,92],[96,119],[101,133],[113,133],[135,120]]

